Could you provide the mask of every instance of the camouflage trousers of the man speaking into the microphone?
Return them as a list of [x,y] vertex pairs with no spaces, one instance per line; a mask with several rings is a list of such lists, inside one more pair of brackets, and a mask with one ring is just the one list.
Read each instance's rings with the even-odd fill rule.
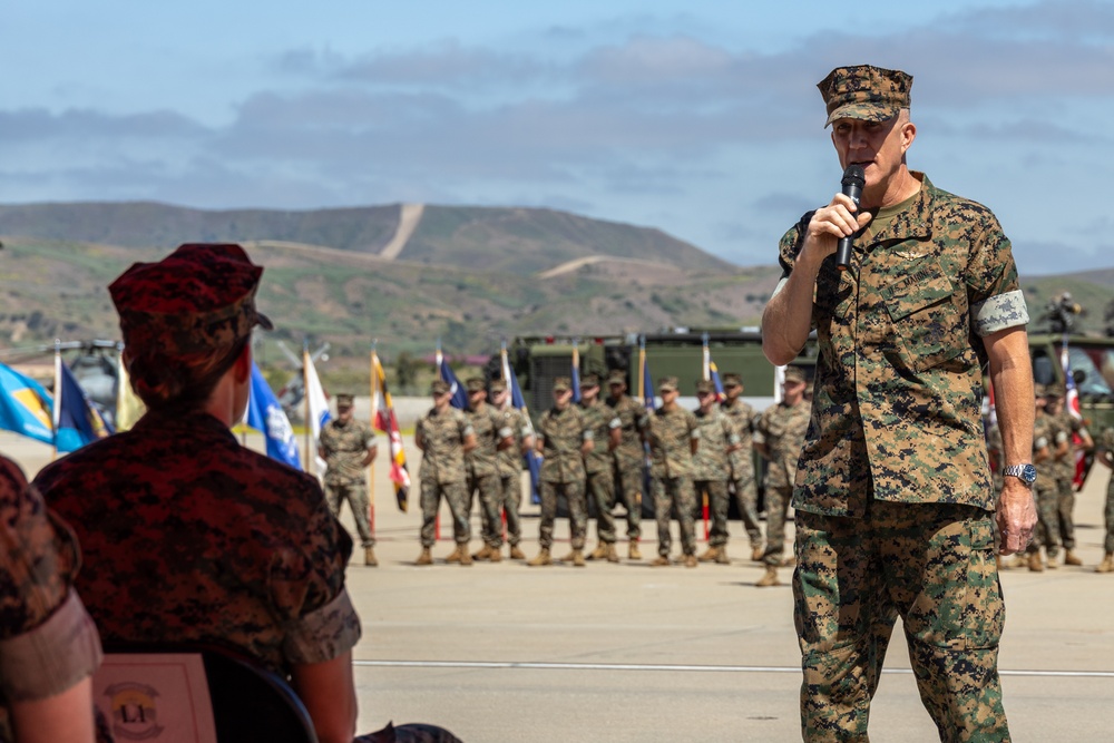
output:
[[797,512],[793,616],[805,741],[868,740],[898,616],[940,740],[1009,741],[990,520],[981,509],[941,504],[871,501],[863,519]]

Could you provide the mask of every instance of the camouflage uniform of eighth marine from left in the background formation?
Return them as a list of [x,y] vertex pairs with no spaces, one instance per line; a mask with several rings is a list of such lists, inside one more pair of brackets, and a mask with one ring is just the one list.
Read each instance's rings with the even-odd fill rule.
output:
[[677,518],[681,530],[681,550],[685,557],[696,554],[696,531],[693,511],[696,495],[693,492],[692,441],[700,440],[700,424],[691,410],[658,408],[646,426],[649,442],[649,487],[654,497],[657,518],[657,554],[670,556],[670,511]]

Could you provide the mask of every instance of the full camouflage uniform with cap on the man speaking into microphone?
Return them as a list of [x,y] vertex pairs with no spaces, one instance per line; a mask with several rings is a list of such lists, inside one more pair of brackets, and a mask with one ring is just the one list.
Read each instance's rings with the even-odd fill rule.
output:
[[[820,87],[831,123],[890,118],[909,105],[910,85],[903,72],[859,67]],[[849,270],[830,255],[817,276],[815,394],[793,493],[809,741],[866,740],[896,616],[941,740],[1009,740],[981,339],[1028,314],[990,211],[912,177],[920,189],[879,211]],[[785,277],[810,218],[781,241]]]

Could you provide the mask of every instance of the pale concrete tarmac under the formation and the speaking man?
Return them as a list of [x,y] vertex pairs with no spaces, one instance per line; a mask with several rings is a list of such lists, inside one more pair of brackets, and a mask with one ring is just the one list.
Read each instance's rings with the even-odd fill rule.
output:
[[[260,448],[254,440],[248,446]],[[2,432],[0,451],[29,475],[50,458],[48,448]],[[419,457],[409,446],[408,457],[417,477]],[[737,522],[730,566],[649,568],[645,559],[624,559],[584,569],[508,560],[463,568],[443,563],[452,546],[442,540],[437,564],[419,568],[417,485],[410,512],[401,514],[387,471],[381,457],[374,468],[380,567],[360,566],[358,553],[348,574],[363,620],[354,652],[361,732],[394,720],[438,723],[468,743],[800,740],[790,570],[786,585],[755,588],[762,568],[746,559]],[[1003,571],[999,668],[1014,741],[1114,739],[1107,722],[1114,575],[1093,573],[1108,477],[1096,466],[1076,505],[1084,567]],[[524,548],[532,556],[537,507],[525,512]],[[346,510],[342,520],[353,530]],[[594,522],[589,535],[594,546]],[[557,537],[559,556],[567,548],[564,520]],[[479,548],[477,537],[472,547]],[[652,522],[644,522],[642,551],[656,554]],[[900,632],[886,668],[871,740],[938,740]]]

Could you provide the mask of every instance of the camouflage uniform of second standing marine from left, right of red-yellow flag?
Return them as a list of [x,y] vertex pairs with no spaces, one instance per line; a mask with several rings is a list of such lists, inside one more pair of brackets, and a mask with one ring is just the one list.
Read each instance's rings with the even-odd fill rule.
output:
[[467,549],[472,537],[468,520],[468,487],[465,473],[465,451],[462,443],[472,434],[468,417],[456,408],[447,408],[439,413],[432,408],[418,419],[414,436],[421,436],[426,444],[422,451],[418,479],[421,481],[421,545],[432,547],[436,537],[437,511],[441,497],[449,504],[452,514],[452,538],[458,547]]

